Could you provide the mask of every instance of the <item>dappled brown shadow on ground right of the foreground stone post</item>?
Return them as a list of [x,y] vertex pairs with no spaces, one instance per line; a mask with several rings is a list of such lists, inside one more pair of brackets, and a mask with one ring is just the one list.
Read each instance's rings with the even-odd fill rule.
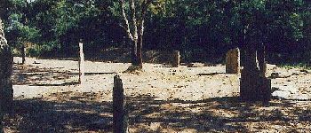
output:
[[[311,116],[307,108],[299,108],[286,100],[261,103],[243,102],[231,97],[201,101],[156,101],[152,97],[142,96],[132,98],[132,105],[131,123],[161,123],[159,128],[177,132],[185,129],[195,129],[196,132],[250,132],[245,123],[309,121]],[[141,129],[140,126],[136,128]]]

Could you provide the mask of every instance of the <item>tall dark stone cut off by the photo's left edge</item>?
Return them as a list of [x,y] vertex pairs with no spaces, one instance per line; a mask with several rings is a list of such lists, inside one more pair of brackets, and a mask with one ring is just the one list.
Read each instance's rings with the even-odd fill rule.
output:
[[12,52],[4,37],[4,26],[0,19],[0,107],[2,112],[12,110],[12,64]]

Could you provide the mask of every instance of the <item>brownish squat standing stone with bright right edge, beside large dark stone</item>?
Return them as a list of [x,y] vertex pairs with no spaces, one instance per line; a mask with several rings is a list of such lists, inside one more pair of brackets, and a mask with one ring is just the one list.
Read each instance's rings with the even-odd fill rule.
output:
[[227,51],[226,54],[226,73],[240,73],[240,50],[238,48]]

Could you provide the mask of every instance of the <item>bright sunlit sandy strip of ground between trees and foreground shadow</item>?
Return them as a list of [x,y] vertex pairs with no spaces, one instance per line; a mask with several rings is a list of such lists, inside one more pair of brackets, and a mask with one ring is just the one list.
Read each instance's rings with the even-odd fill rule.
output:
[[[140,74],[124,74],[127,63],[85,63],[84,86],[77,85],[77,62],[72,60],[27,59],[28,64],[15,66],[14,97],[37,98],[59,91],[107,93],[111,100],[113,76],[121,75],[126,95],[150,95],[160,100],[202,100],[215,97],[238,96],[238,74],[225,74],[226,67],[179,66],[144,64]],[[20,62],[15,58],[16,63]],[[278,74],[271,77],[271,74]],[[311,71],[299,68],[267,66],[267,76],[272,78],[273,96],[286,99],[311,99]]]

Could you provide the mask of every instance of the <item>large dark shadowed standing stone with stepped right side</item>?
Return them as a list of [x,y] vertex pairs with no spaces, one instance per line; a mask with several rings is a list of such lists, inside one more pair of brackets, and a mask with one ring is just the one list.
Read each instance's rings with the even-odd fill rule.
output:
[[269,101],[271,80],[260,74],[256,49],[248,46],[243,53],[245,57],[241,71],[240,97],[246,101]]

